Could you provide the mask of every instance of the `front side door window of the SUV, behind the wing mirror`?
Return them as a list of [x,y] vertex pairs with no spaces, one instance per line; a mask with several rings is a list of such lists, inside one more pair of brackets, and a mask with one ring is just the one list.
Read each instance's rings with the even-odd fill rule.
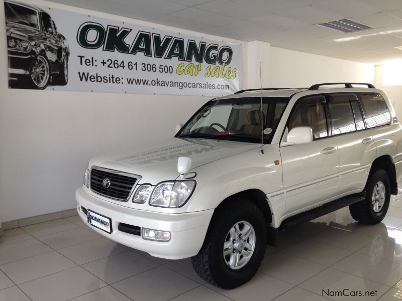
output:
[[324,103],[323,95],[309,96],[299,100],[288,123],[289,131],[297,126],[310,126],[314,139],[328,137]]

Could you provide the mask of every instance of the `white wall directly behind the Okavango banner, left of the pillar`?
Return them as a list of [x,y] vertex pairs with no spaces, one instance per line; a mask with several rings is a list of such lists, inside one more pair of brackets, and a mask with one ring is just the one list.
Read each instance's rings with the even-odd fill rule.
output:
[[[32,3],[66,8],[44,1]],[[128,18],[67,8],[133,22]],[[8,89],[4,16],[2,0],[0,208],[3,222],[75,208],[74,192],[82,185],[82,173],[90,158],[171,137],[176,123],[185,122],[211,98]],[[247,55],[247,48],[244,53]]]

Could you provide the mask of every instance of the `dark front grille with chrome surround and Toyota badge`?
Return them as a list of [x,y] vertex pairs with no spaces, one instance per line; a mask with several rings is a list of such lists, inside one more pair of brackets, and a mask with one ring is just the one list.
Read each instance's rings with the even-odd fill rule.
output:
[[[127,201],[139,176],[119,171],[92,168],[90,188],[93,192],[119,201]],[[103,181],[110,180],[110,186],[105,187]]]

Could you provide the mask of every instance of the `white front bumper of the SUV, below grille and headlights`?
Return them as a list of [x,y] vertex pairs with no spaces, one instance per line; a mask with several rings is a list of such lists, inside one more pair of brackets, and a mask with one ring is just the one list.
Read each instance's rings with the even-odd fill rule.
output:
[[[92,230],[128,247],[167,259],[182,259],[196,255],[204,243],[214,213],[214,209],[180,214],[131,209],[93,197],[87,194],[83,187],[76,190],[75,198],[78,215],[85,223],[87,223],[86,214],[81,210],[81,206],[112,219],[111,234],[88,224]],[[169,231],[170,241],[150,241],[138,235],[122,232],[118,229],[120,223],[139,226],[141,230],[148,228]]]

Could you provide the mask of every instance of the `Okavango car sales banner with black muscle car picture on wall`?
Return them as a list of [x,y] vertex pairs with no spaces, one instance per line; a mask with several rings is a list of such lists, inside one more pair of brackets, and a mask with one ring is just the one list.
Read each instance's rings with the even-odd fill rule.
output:
[[220,96],[241,45],[5,0],[10,88]]

